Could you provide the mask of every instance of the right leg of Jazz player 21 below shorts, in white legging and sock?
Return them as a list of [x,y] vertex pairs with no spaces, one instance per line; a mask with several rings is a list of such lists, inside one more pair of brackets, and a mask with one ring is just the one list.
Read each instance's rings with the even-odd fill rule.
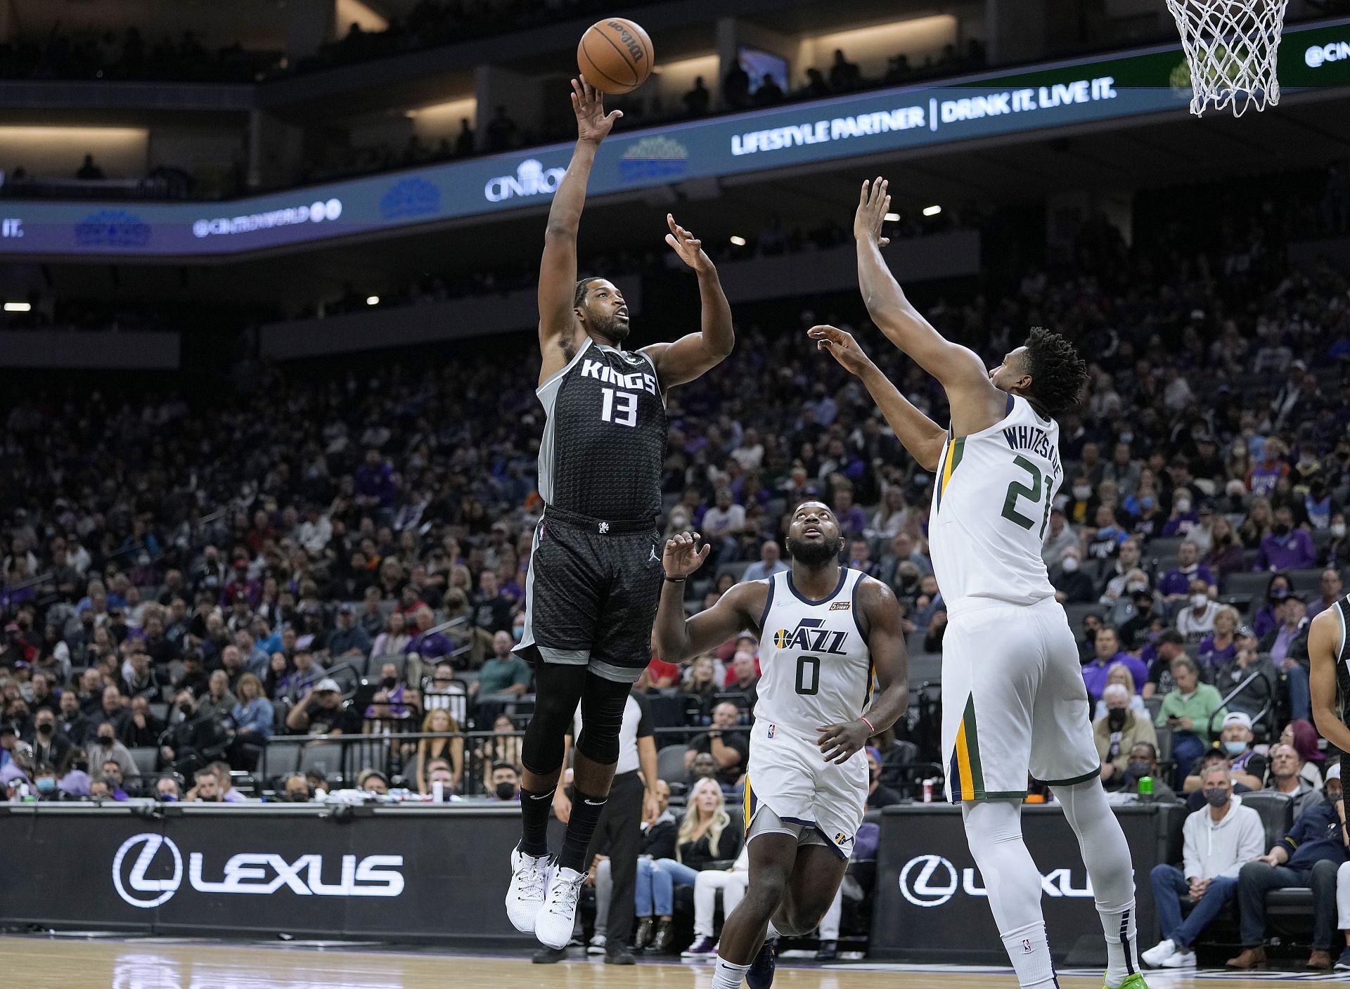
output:
[[1069,827],[1079,837],[1083,865],[1092,881],[1092,895],[1096,897],[1102,934],[1106,938],[1106,985],[1107,989],[1118,989],[1139,970],[1130,846],[1099,780],[1053,789],[1056,800],[1064,807]]

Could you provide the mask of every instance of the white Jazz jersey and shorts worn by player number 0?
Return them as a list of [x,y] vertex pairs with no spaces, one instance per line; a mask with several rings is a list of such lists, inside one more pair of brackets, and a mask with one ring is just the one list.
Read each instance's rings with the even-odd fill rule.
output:
[[[872,658],[863,637],[857,586],[865,575],[844,568],[822,600],[802,596],[791,571],[775,573],[760,621],[759,700],[745,780],[745,827],[768,807],[844,858],[853,851],[867,803],[867,756],[825,761],[818,727],[856,719],[872,692]],[[809,832],[809,834],[806,834]]]

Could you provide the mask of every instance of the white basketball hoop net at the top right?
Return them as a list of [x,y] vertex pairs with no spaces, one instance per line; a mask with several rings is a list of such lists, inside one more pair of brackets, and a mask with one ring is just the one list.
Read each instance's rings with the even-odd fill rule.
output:
[[1166,0],[1191,69],[1191,112],[1280,103],[1276,55],[1289,0]]

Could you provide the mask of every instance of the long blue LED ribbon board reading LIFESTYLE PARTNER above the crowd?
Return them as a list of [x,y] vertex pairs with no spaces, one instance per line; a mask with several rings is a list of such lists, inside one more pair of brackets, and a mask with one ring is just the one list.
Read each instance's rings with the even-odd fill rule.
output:
[[[1179,69],[1181,76],[1179,77]],[[601,146],[590,194],[1187,112],[1180,46],[798,103],[632,132]],[[1350,22],[1289,30],[1287,92],[1350,85]],[[1179,78],[1181,82],[1179,82]],[[225,202],[0,200],[0,254],[221,256],[537,206],[571,143]]]

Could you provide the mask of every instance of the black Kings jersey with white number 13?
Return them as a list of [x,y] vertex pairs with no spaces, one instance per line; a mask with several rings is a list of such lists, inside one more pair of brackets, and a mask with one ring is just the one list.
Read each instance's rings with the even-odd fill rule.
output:
[[666,399],[645,354],[586,337],[544,382],[539,494],[563,511],[606,521],[655,521],[662,509]]

